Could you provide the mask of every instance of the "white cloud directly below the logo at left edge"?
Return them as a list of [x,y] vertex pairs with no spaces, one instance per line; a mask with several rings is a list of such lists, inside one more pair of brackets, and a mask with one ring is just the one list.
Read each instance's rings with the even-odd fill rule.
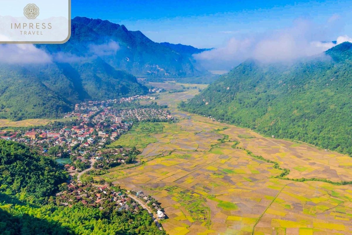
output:
[[32,44],[0,45],[0,63],[39,64],[50,63],[51,61],[50,55]]

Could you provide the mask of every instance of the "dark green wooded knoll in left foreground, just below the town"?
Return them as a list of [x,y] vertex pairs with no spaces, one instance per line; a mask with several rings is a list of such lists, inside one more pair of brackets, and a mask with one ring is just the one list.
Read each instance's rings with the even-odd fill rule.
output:
[[63,169],[29,147],[0,140],[0,193],[41,203],[67,180]]

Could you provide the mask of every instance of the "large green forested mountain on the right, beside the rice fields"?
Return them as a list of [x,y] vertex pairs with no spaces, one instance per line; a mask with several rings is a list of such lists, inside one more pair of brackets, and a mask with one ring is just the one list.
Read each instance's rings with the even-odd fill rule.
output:
[[352,44],[345,42],[290,66],[246,61],[184,109],[352,155],[351,98]]

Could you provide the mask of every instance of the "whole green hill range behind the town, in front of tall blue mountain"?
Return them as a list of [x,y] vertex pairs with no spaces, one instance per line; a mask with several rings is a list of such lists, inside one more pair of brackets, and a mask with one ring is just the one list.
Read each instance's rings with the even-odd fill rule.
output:
[[136,77],[101,58],[71,63],[0,65],[0,118],[56,118],[83,100],[145,94]]

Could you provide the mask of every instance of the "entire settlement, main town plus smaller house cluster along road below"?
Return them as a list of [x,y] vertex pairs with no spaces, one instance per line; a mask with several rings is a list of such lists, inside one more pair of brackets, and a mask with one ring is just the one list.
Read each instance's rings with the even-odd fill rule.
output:
[[[130,107],[128,103],[155,97],[136,95],[105,101],[76,104],[74,111],[65,114],[66,123],[51,123],[31,130],[1,131],[0,138],[26,144],[38,153],[51,156],[61,163],[71,180],[67,188],[56,194],[56,203],[73,206],[82,203],[104,211],[147,209],[157,222],[165,218],[157,201],[143,192],[116,191],[108,185],[83,184],[81,174],[90,169],[107,169],[121,164],[138,164],[135,147],[108,148],[137,122],[167,122],[173,120],[166,109]],[[123,104],[119,107],[119,104]],[[78,173],[78,175],[77,175]],[[76,179],[76,180],[74,180]],[[158,224],[158,223],[157,223]],[[159,226],[160,229],[161,226]]]

